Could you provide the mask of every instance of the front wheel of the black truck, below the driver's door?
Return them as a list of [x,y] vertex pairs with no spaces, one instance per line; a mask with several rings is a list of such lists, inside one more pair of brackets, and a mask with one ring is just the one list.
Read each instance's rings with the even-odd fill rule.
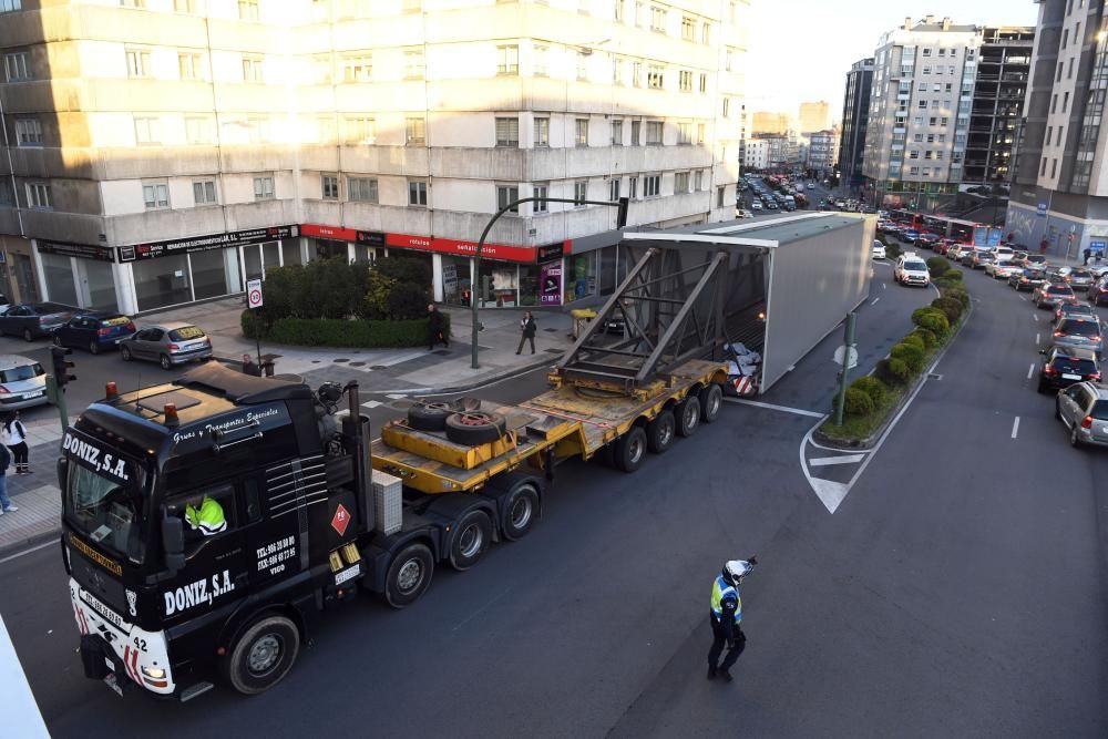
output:
[[264,692],[293,669],[300,651],[300,632],[284,616],[269,616],[235,642],[223,664],[230,686],[244,696]]

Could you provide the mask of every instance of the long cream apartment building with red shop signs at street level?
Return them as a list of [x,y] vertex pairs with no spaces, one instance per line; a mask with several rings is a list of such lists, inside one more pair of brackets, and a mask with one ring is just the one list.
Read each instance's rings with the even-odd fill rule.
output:
[[[17,299],[129,312],[320,257],[435,299],[614,289],[615,208],[733,214],[748,0],[0,0]],[[521,197],[472,254],[490,218]],[[556,284],[556,287],[555,287]]]

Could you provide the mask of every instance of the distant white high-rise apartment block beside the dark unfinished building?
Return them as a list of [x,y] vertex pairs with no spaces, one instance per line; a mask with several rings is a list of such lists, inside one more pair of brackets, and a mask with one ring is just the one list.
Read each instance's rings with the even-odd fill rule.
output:
[[978,27],[934,16],[882,35],[862,170],[879,202],[929,207],[957,192],[981,41]]

